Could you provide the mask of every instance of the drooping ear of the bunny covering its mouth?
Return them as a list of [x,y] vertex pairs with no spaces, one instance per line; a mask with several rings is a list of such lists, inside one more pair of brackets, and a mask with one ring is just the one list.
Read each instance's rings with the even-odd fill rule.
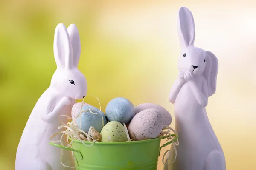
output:
[[218,59],[217,57],[209,51],[206,51],[206,65],[204,69],[204,77],[208,85],[208,96],[216,91],[216,81],[218,74]]

